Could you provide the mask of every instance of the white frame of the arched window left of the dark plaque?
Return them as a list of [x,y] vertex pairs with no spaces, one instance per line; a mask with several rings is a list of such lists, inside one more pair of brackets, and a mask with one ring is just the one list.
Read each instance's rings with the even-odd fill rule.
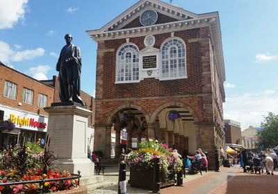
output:
[[[131,47],[129,47],[131,46]],[[126,50],[126,51],[124,51]],[[120,52],[124,54],[124,57],[121,58]],[[127,61],[126,54],[131,53],[131,61]],[[133,62],[134,55],[136,55],[136,62]],[[137,69],[137,71],[133,71]],[[126,71],[127,70],[127,71]],[[116,80],[115,84],[122,83],[132,83],[132,82],[140,82],[140,67],[139,67],[139,48],[136,44],[126,43],[122,44],[120,48],[117,49],[117,57],[116,57]],[[128,74],[128,75],[127,75]],[[126,80],[126,78],[131,76],[131,80]],[[136,78],[138,77],[138,78]],[[119,80],[123,78],[124,80]]]

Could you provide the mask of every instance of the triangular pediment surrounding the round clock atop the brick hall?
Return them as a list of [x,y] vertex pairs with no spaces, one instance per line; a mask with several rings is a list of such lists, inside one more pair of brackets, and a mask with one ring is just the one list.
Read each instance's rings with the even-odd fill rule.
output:
[[[119,15],[110,23],[100,28],[98,31],[104,33],[124,28],[142,27],[142,24],[140,24],[139,17],[140,14],[147,9],[156,10],[156,12],[158,12],[158,21],[156,22],[156,24],[198,18],[198,15],[193,12],[183,10],[183,8],[173,6],[169,3],[164,3],[163,1],[140,0],[138,1],[138,3],[131,6],[131,8],[129,8],[125,12],[122,12],[121,15]],[[160,18],[162,17],[163,19],[160,20]]]

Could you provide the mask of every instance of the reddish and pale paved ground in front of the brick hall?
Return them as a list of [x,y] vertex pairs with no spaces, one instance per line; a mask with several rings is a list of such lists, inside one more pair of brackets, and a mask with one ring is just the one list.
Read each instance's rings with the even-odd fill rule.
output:
[[[115,170],[114,170],[115,171]],[[126,179],[129,179],[129,172],[126,173]],[[104,188],[97,188],[90,191],[90,194],[97,193],[117,193],[117,173],[105,173]],[[171,186],[161,189],[161,194],[223,194],[223,193],[277,193],[278,190],[278,170],[275,175],[254,175],[252,173],[243,173],[242,168],[234,166],[231,168],[221,168],[220,173],[208,171],[203,175],[186,175],[183,179],[183,186]],[[152,191],[133,188],[127,186],[127,193],[152,193]]]

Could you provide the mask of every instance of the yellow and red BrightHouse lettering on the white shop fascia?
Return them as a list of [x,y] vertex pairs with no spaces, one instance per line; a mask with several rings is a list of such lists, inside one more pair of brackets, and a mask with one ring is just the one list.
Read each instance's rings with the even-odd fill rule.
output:
[[26,127],[38,127],[45,129],[47,127],[47,123],[35,121],[35,118],[26,118],[21,116],[15,116],[15,114],[10,114],[10,121],[15,123],[16,125],[19,125],[20,127],[26,126]]

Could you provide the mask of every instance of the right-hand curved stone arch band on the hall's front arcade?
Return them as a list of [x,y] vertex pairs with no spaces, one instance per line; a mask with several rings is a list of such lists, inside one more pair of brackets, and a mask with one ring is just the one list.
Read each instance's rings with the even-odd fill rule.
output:
[[180,102],[176,102],[176,101],[171,101],[168,103],[164,103],[163,105],[160,105],[159,107],[156,108],[156,110],[154,112],[152,112],[151,117],[149,118],[149,122],[153,123],[154,121],[156,121],[156,116],[159,112],[161,112],[161,110],[170,107],[170,106],[178,106],[178,107],[182,107],[184,109],[188,109],[188,111],[190,112],[190,114],[193,115],[194,121],[198,122],[199,121],[199,117],[197,116],[195,110],[190,107],[190,105],[184,104],[184,103],[180,103]]

